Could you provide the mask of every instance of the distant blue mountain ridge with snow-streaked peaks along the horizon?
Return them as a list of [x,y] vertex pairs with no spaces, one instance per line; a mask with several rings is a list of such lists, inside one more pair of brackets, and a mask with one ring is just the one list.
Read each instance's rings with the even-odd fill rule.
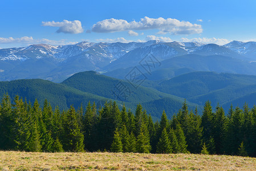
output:
[[197,42],[92,43],[65,46],[34,44],[28,47],[0,49],[0,81],[15,79],[47,79],[62,82],[82,71],[113,71],[136,66],[152,54],[158,60],[177,56],[223,55],[247,62],[256,61],[256,42],[233,41],[219,46]]

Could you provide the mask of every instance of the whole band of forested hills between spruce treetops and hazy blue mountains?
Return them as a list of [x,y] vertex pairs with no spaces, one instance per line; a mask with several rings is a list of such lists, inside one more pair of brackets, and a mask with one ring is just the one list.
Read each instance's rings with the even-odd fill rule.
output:
[[218,74],[216,72],[190,72],[168,80],[144,79],[141,84],[133,84],[128,79],[115,79],[95,71],[79,72],[62,83],[52,83],[42,79],[14,80],[0,82],[0,96],[8,93],[43,105],[47,99],[52,107],[68,109],[71,104],[76,109],[94,102],[103,105],[105,101],[117,101],[119,107],[125,103],[135,111],[141,103],[151,113],[153,120],[159,120],[166,111],[170,119],[181,108],[184,99],[189,109],[202,111],[205,101],[218,103],[228,111],[230,104],[249,107],[255,104],[256,76],[239,74]]

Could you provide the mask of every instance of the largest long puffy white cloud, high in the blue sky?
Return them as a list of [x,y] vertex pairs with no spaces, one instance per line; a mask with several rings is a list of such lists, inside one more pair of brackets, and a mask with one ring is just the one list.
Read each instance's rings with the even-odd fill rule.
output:
[[127,30],[158,29],[161,33],[170,34],[198,34],[202,32],[201,25],[172,18],[141,18],[139,22],[127,22],[124,19],[104,19],[92,26],[94,32],[116,32]]

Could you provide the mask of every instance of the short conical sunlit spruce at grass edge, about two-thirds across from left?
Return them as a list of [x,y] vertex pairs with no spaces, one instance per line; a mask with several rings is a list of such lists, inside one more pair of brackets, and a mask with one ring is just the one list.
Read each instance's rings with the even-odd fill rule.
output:
[[166,132],[166,128],[164,128],[162,130],[160,139],[159,139],[159,143],[157,143],[157,153],[164,153],[164,154],[168,154],[172,152],[172,148],[170,146],[170,140],[168,137],[168,134]]

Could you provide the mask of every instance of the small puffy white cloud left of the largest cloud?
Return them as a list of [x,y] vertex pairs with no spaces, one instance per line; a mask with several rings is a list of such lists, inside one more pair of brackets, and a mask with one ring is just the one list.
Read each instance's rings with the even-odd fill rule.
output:
[[70,34],[78,34],[83,32],[82,23],[78,20],[67,21],[64,19],[62,22],[42,22],[43,26],[59,27],[56,32],[64,32]]

